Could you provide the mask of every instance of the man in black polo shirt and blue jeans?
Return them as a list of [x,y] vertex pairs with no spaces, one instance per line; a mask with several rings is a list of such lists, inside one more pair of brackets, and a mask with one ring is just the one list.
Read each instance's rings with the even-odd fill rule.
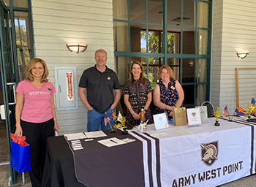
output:
[[[110,124],[113,126],[112,112],[121,97],[121,87],[116,73],[106,66],[107,52],[99,49],[94,58],[96,65],[83,71],[78,95],[88,109],[87,131],[99,131],[99,126],[102,130],[108,130],[111,129]],[[110,118],[110,124],[106,126],[105,112]]]

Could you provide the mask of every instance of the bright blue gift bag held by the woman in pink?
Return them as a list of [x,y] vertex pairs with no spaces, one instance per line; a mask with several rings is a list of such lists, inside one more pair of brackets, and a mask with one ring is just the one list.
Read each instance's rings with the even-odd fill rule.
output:
[[31,170],[30,145],[20,146],[18,143],[12,142],[11,167],[19,173]]

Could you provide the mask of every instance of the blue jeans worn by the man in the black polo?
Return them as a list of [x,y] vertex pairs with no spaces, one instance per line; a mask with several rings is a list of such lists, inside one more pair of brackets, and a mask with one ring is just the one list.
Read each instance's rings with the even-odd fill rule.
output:
[[99,131],[99,126],[101,126],[101,130],[110,130],[111,126],[113,126],[113,116],[112,116],[112,112],[114,110],[113,109],[109,109],[107,111],[107,115],[110,118],[110,121],[105,125],[105,112],[104,113],[99,113],[96,110],[88,110],[87,112],[87,131]]

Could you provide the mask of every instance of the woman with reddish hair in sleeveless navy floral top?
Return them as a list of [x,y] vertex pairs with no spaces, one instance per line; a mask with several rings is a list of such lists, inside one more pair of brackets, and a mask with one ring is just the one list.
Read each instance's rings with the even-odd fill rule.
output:
[[157,113],[167,112],[169,123],[173,123],[174,108],[181,107],[184,91],[178,80],[174,80],[170,66],[161,66],[157,72],[159,83],[154,87],[153,99]]

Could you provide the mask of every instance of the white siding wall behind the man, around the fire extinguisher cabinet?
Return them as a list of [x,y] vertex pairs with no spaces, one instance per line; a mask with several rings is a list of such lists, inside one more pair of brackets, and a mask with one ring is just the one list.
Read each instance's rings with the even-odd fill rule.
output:
[[[112,0],[31,0],[35,56],[45,60],[55,85],[54,66],[76,66],[78,83],[84,69],[94,66],[94,52],[108,52],[114,69]],[[86,42],[84,53],[70,52],[67,42]],[[56,111],[60,134],[86,131],[87,109],[79,99],[78,110]]]

